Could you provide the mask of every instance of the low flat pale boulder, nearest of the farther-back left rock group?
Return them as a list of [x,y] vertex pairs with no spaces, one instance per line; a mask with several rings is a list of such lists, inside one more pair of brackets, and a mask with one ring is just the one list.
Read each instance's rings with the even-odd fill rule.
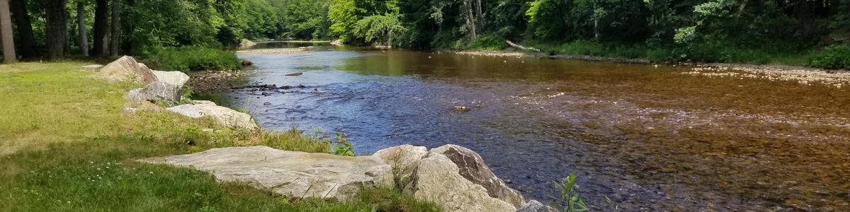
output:
[[242,113],[234,109],[218,106],[209,101],[194,101],[195,104],[182,104],[167,108],[168,111],[183,114],[192,118],[210,117],[219,125],[258,129],[257,123],[251,117],[251,114]]

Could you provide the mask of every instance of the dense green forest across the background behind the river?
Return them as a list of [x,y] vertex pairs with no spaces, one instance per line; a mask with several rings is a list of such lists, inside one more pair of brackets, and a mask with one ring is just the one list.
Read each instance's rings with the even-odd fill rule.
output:
[[[8,0],[22,59],[342,39],[850,67],[850,0]],[[84,38],[84,39],[83,39]]]

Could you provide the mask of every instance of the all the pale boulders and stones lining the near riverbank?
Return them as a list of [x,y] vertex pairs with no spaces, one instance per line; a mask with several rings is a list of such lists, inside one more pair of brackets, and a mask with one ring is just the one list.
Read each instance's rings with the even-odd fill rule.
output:
[[[221,126],[260,131],[250,114],[209,101],[184,98],[182,89],[192,80],[182,72],[150,70],[127,56],[94,71],[97,71],[95,75],[110,81],[146,84],[131,90],[127,101],[149,106],[126,108],[127,113],[139,110],[170,112],[212,119]],[[201,82],[196,83],[209,84],[201,86],[205,91],[223,89],[221,81],[237,76],[208,72],[198,77]],[[245,87],[235,89],[242,88]],[[269,89],[288,87],[271,85]],[[160,109],[162,106],[167,108]],[[402,145],[357,157],[292,152],[265,146],[213,148],[201,153],[140,161],[190,166],[212,172],[218,181],[246,181],[253,187],[270,189],[288,198],[344,200],[356,196],[364,187],[396,187],[438,204],[445,211],[554,211],[537,201],[526,203],[517,190],[493,174],[478,153],[456,145],[431,150]]]

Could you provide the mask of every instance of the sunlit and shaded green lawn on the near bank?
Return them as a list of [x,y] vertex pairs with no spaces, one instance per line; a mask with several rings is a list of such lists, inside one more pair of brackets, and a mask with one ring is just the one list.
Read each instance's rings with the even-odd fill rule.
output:
[[77,70],[82,65],[0,65],[0,211],[436,210],[396,188],[368,189],[346,202],[283,198],[200,171],[136,162],[233,146],[330,148],[298,131],[243,131],[179,114],[123,113],[139,106],[123,100],[134,85],[94,80]]

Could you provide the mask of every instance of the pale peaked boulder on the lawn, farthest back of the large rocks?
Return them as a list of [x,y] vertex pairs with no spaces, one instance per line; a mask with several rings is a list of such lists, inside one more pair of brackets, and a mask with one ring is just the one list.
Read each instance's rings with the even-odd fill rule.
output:
[[107,81],[132,81],[151,83],[156,81],[156,75],[146,65],[139,64],[136,59],[124,56],[106,64],[100,69],[98,76]]

